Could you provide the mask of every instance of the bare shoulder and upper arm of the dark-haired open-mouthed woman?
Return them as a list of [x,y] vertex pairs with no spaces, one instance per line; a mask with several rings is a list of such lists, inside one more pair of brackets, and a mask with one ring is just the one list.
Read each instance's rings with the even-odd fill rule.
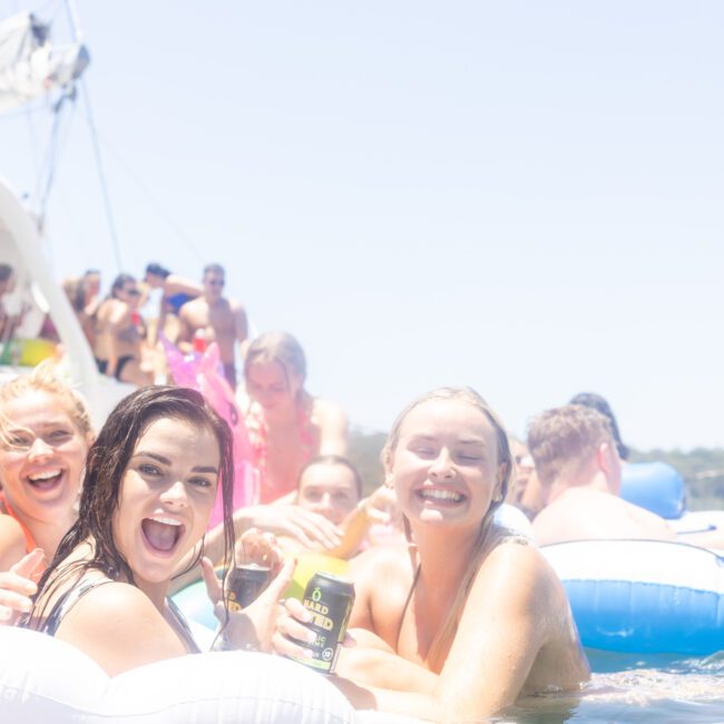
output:
[[86,653],[109,676],[188,653],[150,599],[120,583],[82,596],[66,614],[56,638]]

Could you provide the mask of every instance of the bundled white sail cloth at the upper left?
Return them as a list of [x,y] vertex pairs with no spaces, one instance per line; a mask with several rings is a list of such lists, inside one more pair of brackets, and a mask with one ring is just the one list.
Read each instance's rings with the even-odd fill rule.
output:
[[79,42],[52,45],[50,26],[31,12],[0,22],[0,112],[70,86],[90,62]]

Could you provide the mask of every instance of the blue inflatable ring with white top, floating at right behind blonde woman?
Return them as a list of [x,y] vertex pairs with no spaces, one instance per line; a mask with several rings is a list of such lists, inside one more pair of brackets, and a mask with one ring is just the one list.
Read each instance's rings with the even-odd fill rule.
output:
[[584,646],[708,655],[724,649],[724,557],[682,542],[544,546]]

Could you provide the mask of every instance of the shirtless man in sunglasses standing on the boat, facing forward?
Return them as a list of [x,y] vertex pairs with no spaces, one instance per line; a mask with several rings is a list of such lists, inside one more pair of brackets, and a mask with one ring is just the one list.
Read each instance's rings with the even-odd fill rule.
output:
[[232,388],[236,389],[234,342],[238,341],[242,345],[243,355],[248,329],[244,307],[238,302],[222,296],[225,283],[226,273],[223,266],[209,264],[204,268],[204,294],[184,304],[178,313],[178,346],[182,351],[189,352],[195,334],[202,330],[206,343],[218,344],[224,375]]

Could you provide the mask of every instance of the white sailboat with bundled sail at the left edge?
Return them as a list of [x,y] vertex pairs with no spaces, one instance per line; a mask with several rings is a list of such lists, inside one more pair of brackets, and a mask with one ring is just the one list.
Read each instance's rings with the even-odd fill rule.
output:
[[[52,45],[49,26],[30,12],[0,22],[0,114],[41,97],[60,102],[72,96],[89,61],[82,43]],[[0,176],[0,264],[12,268],[14,278],[0,303],[19,319],[12,334],[0,339],[0,384],[57,356],[99,424],[134,388],[98,372],[78,317],[51,273],[43,235],[42,213],[33,213]],[[48,327],[56,334],[48,335]]]

